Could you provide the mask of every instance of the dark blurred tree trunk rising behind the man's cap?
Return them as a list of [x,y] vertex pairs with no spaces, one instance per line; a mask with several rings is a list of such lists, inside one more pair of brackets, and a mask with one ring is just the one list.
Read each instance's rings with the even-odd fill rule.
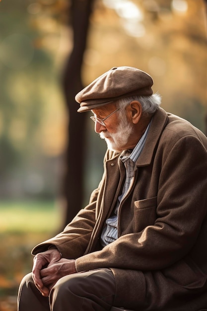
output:
[[72,0],[70,16],[73,29],[73,49],[63,75],[63,87],[69,112],[68,147],[65,157],[63,197],[66,200],[64,227],[82,208],[83,168],[85,155],[86,114],[78,113],[75,94],[83,88],[81,67],[89,28],[93,0]]

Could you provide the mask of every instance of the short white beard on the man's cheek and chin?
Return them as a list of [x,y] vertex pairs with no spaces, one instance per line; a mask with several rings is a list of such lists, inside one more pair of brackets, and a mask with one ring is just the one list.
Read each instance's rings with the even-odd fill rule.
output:
[[133,125],[129,124],[126,115],[122,115],[116,133],[111,134],[108,131],[103,131],[99,135],[100,138],[105,139],[109,150],[120,152],[125,150],[132,131]]

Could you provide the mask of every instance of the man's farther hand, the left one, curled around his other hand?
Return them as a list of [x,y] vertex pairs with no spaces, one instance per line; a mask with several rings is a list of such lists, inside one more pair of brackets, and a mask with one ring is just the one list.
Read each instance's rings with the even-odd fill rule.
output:
[[41,279],[40,271],[44,266],[52,265],[61,259],[61,254],[58,249],[50,249],[39,253],[34,257],[34,264],[32,269],[32,278],[35,286],[39,289],[43,296],[49,295],[49,289],[44,285]]

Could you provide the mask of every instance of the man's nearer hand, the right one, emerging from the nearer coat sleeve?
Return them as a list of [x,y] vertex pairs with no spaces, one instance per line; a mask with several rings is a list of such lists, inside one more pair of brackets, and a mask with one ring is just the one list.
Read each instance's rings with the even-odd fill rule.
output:
[[47,293],[44,291],[44,296],[46,296],[45,294],[49,295],[51,289],[60,278],[72,273],[76,273],[74,259],[62,258],[58,262],[50,263],[47,268],[42,269],[40,271],[42,283],[49,291]]

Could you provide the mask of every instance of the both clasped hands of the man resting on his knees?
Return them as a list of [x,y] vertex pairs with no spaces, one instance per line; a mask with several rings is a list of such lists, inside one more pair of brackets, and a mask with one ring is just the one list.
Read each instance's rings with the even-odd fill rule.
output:
[[65,275],[76,273],[75,260],[61,258],[58,249],[49,249],[34,257],[32,278],[35,286],[48,297],[56,282]]

